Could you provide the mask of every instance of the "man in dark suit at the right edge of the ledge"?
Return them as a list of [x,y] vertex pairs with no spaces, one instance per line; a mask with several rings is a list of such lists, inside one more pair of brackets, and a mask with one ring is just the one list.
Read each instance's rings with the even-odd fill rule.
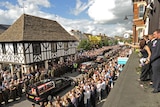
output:
[[158,93],[160,90],[160,29],[154,31],[153,36],[156,38],[152,41],[151,47],[151,66],[153,72],[153,88],[152,93]]

